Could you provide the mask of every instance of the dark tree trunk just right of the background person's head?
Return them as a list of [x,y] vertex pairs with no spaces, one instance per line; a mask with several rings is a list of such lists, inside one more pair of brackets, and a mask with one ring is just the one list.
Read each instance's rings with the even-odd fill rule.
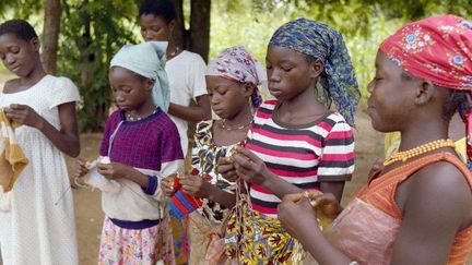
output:
[[192,0],[190,11],[190,50],[208,62],[210,52],[211,0]]

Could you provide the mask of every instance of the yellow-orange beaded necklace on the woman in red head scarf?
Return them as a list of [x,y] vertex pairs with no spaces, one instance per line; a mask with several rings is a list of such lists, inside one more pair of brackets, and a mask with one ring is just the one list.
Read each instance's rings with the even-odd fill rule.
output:
[[420,146],[416,146],[414,148],[408,149],[408,150],[403,150],[403,152],[397,152],[394,153],[390,158],[386,159],[384,161],[384,166],[389,166],[392,165],[396,161],[406,161],[410,158],[423,155],[425,153],[435,150],[435,149],[439,149],[442,147],[456,147],[456,144],[452,140],[448,138],[441,138],[441,140],[436,140]]

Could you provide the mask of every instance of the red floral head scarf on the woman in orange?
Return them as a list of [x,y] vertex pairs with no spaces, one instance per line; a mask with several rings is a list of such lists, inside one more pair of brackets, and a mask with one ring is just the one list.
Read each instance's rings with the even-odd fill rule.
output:
[[[380,50],[408,73],[435,85],[472,91],[472,23],[440,15],[406,24],[381,45]],[[460,106],[467,123],[467,154],[472,168],[472,104]]]

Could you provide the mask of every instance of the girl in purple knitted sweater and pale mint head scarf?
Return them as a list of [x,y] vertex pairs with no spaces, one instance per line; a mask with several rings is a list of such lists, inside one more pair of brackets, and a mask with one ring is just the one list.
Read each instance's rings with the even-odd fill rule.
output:
[[[175,264],[160,181],[182,168],[182,154],[177,129],[161,108],[167,103],[152,96],[168,89],[165,48],[156,41],[125,46],[110,62],[119,110],[108,118],[102,140],[101,156],[110,162],[97,169],[121,189],[102,193],[106,217],[98,264]],[[86,164],[76,160],[73,171],[84,176]]]

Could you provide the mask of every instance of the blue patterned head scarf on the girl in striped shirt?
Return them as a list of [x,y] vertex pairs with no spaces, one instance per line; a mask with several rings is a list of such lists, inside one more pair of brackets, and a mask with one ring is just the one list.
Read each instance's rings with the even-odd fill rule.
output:
[[354,124],[361,92],[351,57],[339,32],[316,21],[298,19],[276,29],[269,45],[321,60],[324,69],[319,76],[319,84],[326,93],[318,95],[319,99],[327,107],[333,100],[344,119],[351,125]]

